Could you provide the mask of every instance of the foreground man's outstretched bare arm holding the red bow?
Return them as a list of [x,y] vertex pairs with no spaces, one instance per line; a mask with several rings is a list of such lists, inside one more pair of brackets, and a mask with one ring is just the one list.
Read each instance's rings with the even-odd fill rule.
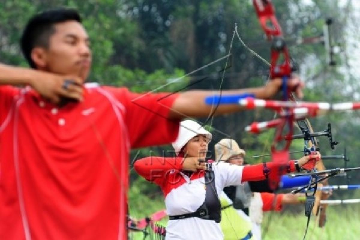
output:
[[[281,88],[282,79],[276,78],[267,83],[264,87],[255,87],[248,89],[238,90],[224,90],[221,95],[228,94],[254,94],[258,99],[272,98]],[[294,90],[295,94],[302,98],[303,82],[298,78],[290,78],[288,80],[288,88]],[[205,104],[205,98],[208,96],[218,95],[219,91],[187,91],[180,93],[179,97],[172,105],[172,111],[170,112],[170,118],[179,119],[186,117],[207,117],[215,110],[216,103],[213,105]],[[215,111],[215,115],[238,112],[244,109],[237,104],[219,105]]]

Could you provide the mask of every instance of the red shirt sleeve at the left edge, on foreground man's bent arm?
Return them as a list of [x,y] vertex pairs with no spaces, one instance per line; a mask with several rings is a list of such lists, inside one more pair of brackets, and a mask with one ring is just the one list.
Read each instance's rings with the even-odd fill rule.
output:
[[13,86],[0,86],[0,129],[5,119],[10,113],[14,97],[19,93],[19,89]]

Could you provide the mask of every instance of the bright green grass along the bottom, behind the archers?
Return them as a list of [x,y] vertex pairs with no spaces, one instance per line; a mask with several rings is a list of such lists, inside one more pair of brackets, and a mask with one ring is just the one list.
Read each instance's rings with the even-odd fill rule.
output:
[[[131,204],[131,203],[130,203]],[[131,215],[137,218],[150,216],[153,212],[164,209],[162,196],[155,199],[147,197],[135,203],[137,207],[130,208]],[[268,222],[270,219],[270,223]],[[301,213],[288,210],[283,213],[265,213],[263,228],[269,224],[269,229],[263,235],[263,240],[302,240],[306,228],[306,217]],[[167,219],[161,225],[166,226]],[[360,239],[360,205],[336,205],[327,208],[327,222],[324,228],[317,227],[312,216],[306,240],[356,240]],[[263,231],[264,234],[264,231]],[[143,239],[142,233],[134,233],[132,240]],[[147,239],[150,239],[148,237]]]

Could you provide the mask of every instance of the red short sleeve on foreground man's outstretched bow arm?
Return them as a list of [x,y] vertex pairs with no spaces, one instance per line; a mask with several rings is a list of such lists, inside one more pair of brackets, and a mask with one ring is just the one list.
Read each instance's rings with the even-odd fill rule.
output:
[[168,116],[179,94],[137,94],[126,88],[116,91],[116,97],[121,102],[125,100],[125,124],[131,148],[169,144],[176,140],[181,119],[172,120]]

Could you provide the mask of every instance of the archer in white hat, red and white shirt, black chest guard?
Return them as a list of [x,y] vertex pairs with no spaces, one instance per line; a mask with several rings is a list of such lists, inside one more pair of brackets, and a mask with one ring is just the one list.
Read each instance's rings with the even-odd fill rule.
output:
[[[219,196],[226,186],[266,179],[264,167],[272,163],[237,166],[205,161],[212,134],[192,120],[180,124],[179,135],[172,143],[176,157],[146,157],[135,162],[136,172],[161,187],[169,222],[166,240],[220,240],[221,205]],[[300,167],[312,168],[317,154],[289,161],[289,172]],[[304,165],[306,164],[306,165]],[[275,171],[273,171],[275,172]]]

